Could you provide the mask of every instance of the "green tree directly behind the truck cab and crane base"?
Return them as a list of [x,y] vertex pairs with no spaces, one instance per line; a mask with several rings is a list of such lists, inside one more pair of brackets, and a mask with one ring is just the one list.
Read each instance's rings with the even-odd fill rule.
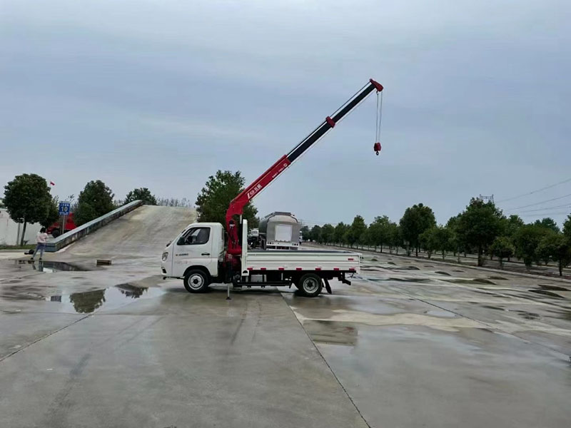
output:
[[[198,221],[226,224],[226,211],[233,198],[244,190],[244,178],[240,171],[216,171],[215,175],[208,177],[206,185],[196,198],[196,211]],[[252,203],[243,208],[242,218],[248,220],[248,225],[256,228],[256,215],[258,210]]]

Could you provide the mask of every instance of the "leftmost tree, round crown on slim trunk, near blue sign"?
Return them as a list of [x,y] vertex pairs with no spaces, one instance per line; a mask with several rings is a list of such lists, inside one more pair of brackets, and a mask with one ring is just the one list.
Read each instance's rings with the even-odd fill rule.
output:
[[4,186],[4,205],[10,218],[24,223],[20,245],[28,223],[46,223],[51,216],[52,199],[46,180],[37,174],[16,175]]

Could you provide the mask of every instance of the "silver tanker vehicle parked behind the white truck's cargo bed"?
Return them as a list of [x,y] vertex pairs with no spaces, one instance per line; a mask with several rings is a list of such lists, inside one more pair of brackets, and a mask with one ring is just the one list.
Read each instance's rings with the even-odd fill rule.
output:
[[297,250],[301,225],[292,213],[276,211],[260,220],[260,247],[263,250]]

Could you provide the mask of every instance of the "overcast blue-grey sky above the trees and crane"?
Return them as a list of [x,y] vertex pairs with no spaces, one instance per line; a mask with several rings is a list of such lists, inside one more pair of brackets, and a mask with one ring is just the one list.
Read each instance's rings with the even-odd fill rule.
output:
[[[0,185],[196,200],[218,169],[250,183],[373,77],[381,155],[373,95],[256,206],[336,223],[425,203],[445,223],[480,193],[571,178],[570,17],[545,0],[0,0]],[[530,221],[571,196],[518,207],[568,194],[498,205]]]

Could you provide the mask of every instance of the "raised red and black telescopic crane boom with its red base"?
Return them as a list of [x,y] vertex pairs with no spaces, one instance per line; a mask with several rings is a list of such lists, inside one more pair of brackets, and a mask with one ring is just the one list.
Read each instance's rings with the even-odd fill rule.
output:
[[363,86],[354,96],[352,96],[343,106],[338,108],[335,113],[331,116],[327,116],[325,120],[320,123],[320,125],[315,128],[315,130],[305,137],[297,146],[293,148],[287,155],[283,155],[278,159],[276,163],[271,165],[265,173],[260,175],[256,180],[248,185],[247,188],[241,191],[241,193],[234,198],[228,210],[226,211],[226,230],[228,231],[228,254],[239,255],[241,253],[241,246],[238,242],[238,228],[234,223],[233,217],[235,215],[242,215],[243,208],[248,202],[250,202],[258,193],[260,193],[264,188],[266,188],[273,180],[278,177],[283,171],[288,168],[293,162],[295,162],[303,153],[308,151],[308,149],[313,146],[317,141],[325,136],[331,128],[335,127],[344,116],[346,116],[350,111],[353,110],[358,104],[367,98],[373,91],[383,91],[383,86],[374,81],[372,78],[369,82]]

